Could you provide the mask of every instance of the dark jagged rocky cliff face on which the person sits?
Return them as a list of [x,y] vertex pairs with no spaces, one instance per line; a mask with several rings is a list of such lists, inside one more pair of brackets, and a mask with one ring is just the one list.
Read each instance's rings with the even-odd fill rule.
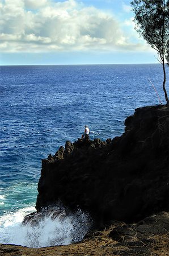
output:
[[66,142],[44,159],[37,212],[61,201],[100,225],[169,210],[169,108],[136,109],[125,125],[121,137]]

